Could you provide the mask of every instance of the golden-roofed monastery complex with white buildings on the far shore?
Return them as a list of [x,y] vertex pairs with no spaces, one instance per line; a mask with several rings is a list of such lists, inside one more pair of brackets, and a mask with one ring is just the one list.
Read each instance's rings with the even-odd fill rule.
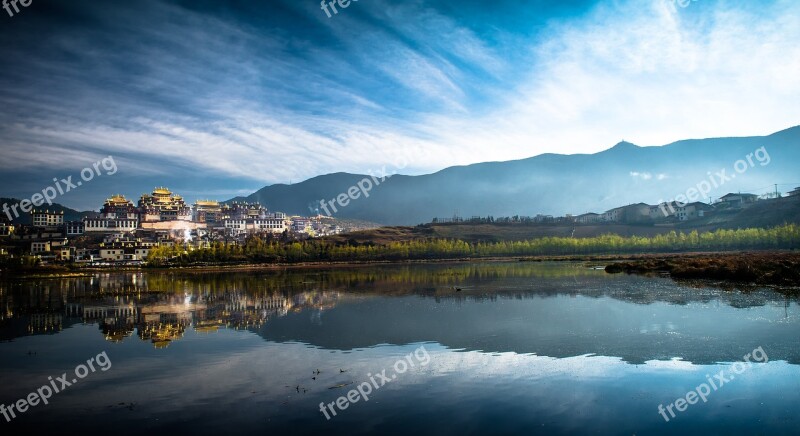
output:
[[[114,195],[99,213],[80,221],[66,221],[62,211],[38,209],[31,211],[30,226],[0,218],[0,238],[23,246],[21,254],[43,262],[91,264],[141,263],[153,247],[175,242],[196,249],[213,241],[243,243],[250,235],[328,236],[343,230],[330,217],[287,216],[259,203],[198,200],[192,205],[164,187],[142,194],[136,204]],[[76,243],[80,240],[84,243]],[[8,254],[2,241],[0,247],[0,255]]]

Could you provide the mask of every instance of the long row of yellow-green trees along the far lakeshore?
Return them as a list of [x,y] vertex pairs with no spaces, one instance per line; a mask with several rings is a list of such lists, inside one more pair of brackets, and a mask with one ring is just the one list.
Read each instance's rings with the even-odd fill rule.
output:
[[770,229],[696,230],[669,232],[652,237],[606,234],[591,238],[545,237],[526,241],[470,243],[452,239],[419,239],[386,244],[267,240],[251,236],[244,244],[214,242],[191,250],[185,245],[155,247],[149,266],[197,263],[298,263],[346,261],[402,261],[551,255],[601,255],[727,251],[747,249],[796,249],[800,226],[786,224]]

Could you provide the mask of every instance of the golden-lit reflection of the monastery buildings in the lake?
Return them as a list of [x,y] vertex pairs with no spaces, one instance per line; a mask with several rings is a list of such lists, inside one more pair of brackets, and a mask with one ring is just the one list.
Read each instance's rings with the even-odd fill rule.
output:
[[[96,281],[95,281],[96,280]],[[102,286],[101,286],[102,284]],[[31,289],[14,298],[0,293],[0,340],[55,334],[76,324],[97,324],[106,340],[121,342],[136,333],[156,348],[183,337],[187,329],[257,329],[267,321],[306,308],[326,309],[338,292],[302,292],[290,297],[251,295],[238,290],[191,293],[148,292],[141,284],[97,277],[86,289]],[[47,286],[47,285],[42,285]],[[97,292],[102,289],[101,292]],[[69,295],[69,296],[67,296]]]

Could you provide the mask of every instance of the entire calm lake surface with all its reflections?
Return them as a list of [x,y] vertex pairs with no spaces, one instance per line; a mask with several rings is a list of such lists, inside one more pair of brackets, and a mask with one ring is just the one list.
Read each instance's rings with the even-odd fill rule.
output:
[[800,429],[798,298],[770,289],[564,263],[124,273],[0,283],[0,312],[3,435]]

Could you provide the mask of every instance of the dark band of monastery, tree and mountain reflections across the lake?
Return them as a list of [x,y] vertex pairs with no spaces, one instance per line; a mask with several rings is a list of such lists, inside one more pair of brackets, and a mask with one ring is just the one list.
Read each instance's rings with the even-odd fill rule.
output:
[[[99,325],[109,341],[136,333],[157,347],[188,329],[235,328],[339,350],[435,341],[554,357],[708,363],[770,346],[771,359],[800,362],[800,339],[787,329],[800,318],[796,296],[695,286],[574,263],[103,274],[0,284],[0,334],[13,339],[85,322]],[[739,354],[731,344],[750,349]]]

